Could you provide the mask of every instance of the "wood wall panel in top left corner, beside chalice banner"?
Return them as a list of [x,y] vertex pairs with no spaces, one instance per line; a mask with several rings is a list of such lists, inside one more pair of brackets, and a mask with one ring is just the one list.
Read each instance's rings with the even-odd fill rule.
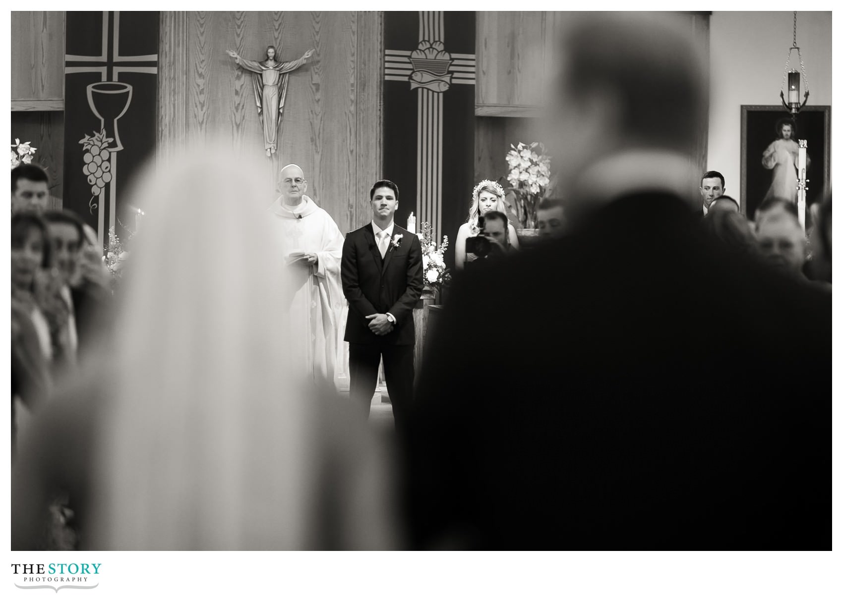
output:
[[13,11],[14,110],[56,110],[64,98],[64,13]]

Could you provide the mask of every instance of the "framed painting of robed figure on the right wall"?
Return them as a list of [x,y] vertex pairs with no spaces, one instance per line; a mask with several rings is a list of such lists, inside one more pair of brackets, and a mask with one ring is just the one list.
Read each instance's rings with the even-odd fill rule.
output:
[[740,116],[740,204],[747,217],[771,196],[796,202],[800,140],[808,142],[806,205],[819,202],[831,188],[831,107],[808,105],[794,117],[781,104],[744,104]]

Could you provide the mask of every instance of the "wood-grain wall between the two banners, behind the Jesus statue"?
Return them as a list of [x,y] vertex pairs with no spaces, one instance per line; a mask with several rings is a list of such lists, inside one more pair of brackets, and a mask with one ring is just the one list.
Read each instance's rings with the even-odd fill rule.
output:
[[342,231],[368,221],[368,188],[381,168],[380,13],[161,14],[159,145],[221,133],[235,148],[262,151],[251,74],[225,51],[263,60],[266,46],[277,45],[281,60],[290,61],[314,48],[309,64],[289,76],[267,177],[277,181],[280,169],[295,162],[308,179],[308,195]]

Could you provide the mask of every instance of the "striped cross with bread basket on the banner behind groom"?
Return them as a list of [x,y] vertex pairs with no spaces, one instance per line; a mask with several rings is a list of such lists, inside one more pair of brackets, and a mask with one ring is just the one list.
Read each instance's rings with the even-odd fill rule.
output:
[[444,93],[452,85],[475,84],[475,55],[451,54],[445,46],[442,11],[419,12],[415,50],[384,50],[384,79],[410,82],[418,90],[416,204],[418,222],[442,232],[442,123]]

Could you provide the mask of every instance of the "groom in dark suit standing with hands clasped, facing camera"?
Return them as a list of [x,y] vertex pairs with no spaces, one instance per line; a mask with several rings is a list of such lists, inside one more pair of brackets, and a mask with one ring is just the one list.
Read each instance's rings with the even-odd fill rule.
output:
[[346,342],[352,401],[368,415],[380,359],[396,427],[412,400],[413,307],[421,297],[421,243],[396,226],[398,186],[383,179],[369,192],[373,219],[350,232],[342,245],[342,290],[348,299]]

